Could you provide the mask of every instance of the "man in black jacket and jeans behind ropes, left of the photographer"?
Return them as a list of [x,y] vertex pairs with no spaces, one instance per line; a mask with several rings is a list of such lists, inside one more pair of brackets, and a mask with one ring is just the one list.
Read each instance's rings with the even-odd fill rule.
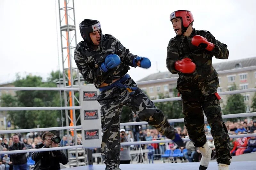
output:
[[[9,147],[9,151],[26,149],[25,144],[20,142],[18,135],[12,136],[13,144]],[[11,154],[13,169],[14,170],[27,170],[27,153],[15,153]]]

